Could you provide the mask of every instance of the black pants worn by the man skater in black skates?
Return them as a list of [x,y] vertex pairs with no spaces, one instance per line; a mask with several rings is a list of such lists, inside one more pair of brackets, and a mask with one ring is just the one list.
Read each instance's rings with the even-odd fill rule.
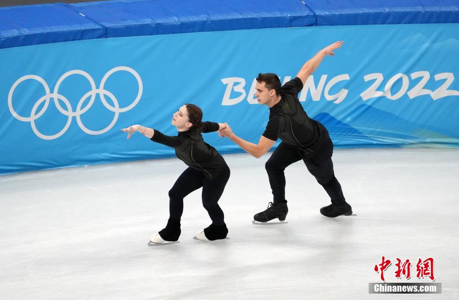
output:
[[301,149],[285,142],[281,142],[277,149],[274,150],[265,165],[274,202],[285,200],[285,168],[303,160],[309,173],[323,186],[332,203],[337,205],[344,203],[345,199],[341,185],[333,171],[333,142],[326,130],[322,133],[324,134],[323,139],[320,145],[314,149],[312,156],[306,155]]

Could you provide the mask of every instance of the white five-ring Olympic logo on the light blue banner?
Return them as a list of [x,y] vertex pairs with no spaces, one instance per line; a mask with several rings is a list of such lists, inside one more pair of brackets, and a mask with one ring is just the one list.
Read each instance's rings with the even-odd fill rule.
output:
[[[138,91],[137,96],[134,99],[134,101],[131,104],[129,104],[128,106],[121,107],[121,108],[119,107],[118,100],[116,100],[115,96],[112,93],[110,93],[109,91],[104,89],[104,85],[105,85],[105,82],[107,81],[107,79],[110,77],[110,75],[112,75],[113,73],[115,73],[117,71],[127,71],[127,72],[131,73],[132,75],[134,75],[134,77],[137,80],[137,83],[139,85],[139,91]],[[87,92],[86,94],[84,94],[83,97],[81,97],[81,99],[78,101],[78,104],[76,105],[76,110],[75,111],[72,110],[72,106],[70,105],[69,100],[67,100],[67,98],[65,98],[64,96],[59,94],[59,86],[61,85],[62,81],[65,78],[69,77],[70,75],[74,75],[74,74],[84,76],[89,81],[89,83],[91,85],[91,90],[89,92]],[[37,102],[34,104],[34,107],[32,108],[32,112],[30,113],[30,117],[23,117],[23,116],[19,115],[18,113],[16,113],[16,111],[14,110],[14,108],[13,108],[13,100],[12,99],[13,99],[13,93],[14,93],[14,90],[16,89],[16,87],[21,82],[26,81],[28,79],[34,79],[34,80],[37,80],[39,83],[41,83],[41,85],[44,88],[45,95],[43,97],[41,97],[40,99],[38,99]],[[101,81],[100,86],[99,86],[98,89],[96,88],[96,84],[95,84],[94,80],[92,79],[92,77],[88,73],[86,73],[85,71],[82,71],[82,70],[68,71],[68,72],[66,72],[64,75],[62,75],[59,78],[59,80],[56,83],[56,86],[54,87],[53,93],[50,93],[50,89],[49,89],[47,83],[40,76],[37,76],[37,75],[25,75],[25,76],[22,76],[21,78],[19,78],[18,80],[16,80],[16,82],[11,86],[11,89],[9,90],[9,94],[8,94],[8,107],[9,107],[9,111],[11,112],[13,117],[15,117],[16,119],[18,119],[19,121],[22,121],[22,122],[30,122],[30,124],[32,126],[32,130],[34,131],[34,133],[39,138],[42,138],[42,139],[51,140],[51,139],[58,138],[59,136],[64,134],[69,129],[70,124],[72,123],[73,117],[76,117],[76,123],[78,124],[78,126],[81,128],[81,130],[83,132],[88,133],[88,134],[92,134],[92,135],[97,135],[97,134],[106,133],[110,129],[112,129],[112,127],[116,123],[116,120],[118,119],[119,113],[130,110],[131,108],[133,108],[139,102],[140,98],[142,97],[142,91],[143,91],[142,79],[140,78],[140,75],[134,69],[132,69],[130,67],[114,67],[113,69],[108,71],[104,75],[104,77],[102,78],[102,81]],[[115,112],[115,116],[114,116],[112,122],[106,128],[104,128],[102,130],[99,130],[99,131],[93,131],[93,130],[90,130],[90,129],[86,128],[83,125],[83,123],[81,122],[81,115],[83,113],[85,113],[86,111],[88,111],[89,108],[91,108],[91,106],[94,103],[94,100],[95,100],[97,94],[100,95],[100,99],[102,100],[102,103],[104,104],[104,106],[107,109]],[[110,100],[112,100],[112,102],[114,104],[113,106],[110,105],[107,102],[107,100],[105,100],[105,96],[108,96],[110,98]],[[81,106],[83,105],[84,101],[88,97],[91,97],[91,99],[89,100],[88,104],[86,104],[86,106],[81,108]],[[48,108],[48,105],[49,105],[49,100],[51,98],[54,100],[54,104],[56,105],[56,108],[61,113],[63,113],[64,115],[68,116],[68,119],[67,119],[66,125],[64,126],[64,128],[60,132],[58,132],[56,134],[53,134],[53,135],[45,135],[45,134],[40,133],[38,131],[37,126],[35,125],[35,120],[37,120],[46,111],[46,109]],[[61,106],[61,104],[59,103],[59,100],[64,102],[67,110],[64,109]],[[43,107],[41,108],[41,110],[37,113],[38,106],[42,102],[45,102],[45,103],[44,103]]]

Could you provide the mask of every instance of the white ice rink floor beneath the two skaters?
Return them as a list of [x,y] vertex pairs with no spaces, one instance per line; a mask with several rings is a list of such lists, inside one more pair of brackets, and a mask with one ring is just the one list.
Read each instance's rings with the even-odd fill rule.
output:
[[[459,150],[338,149],[335,173],[357,216],[319,214],[329,199],[302,162],[286,169],[288,224],[253,225],[271,200],[264,164],[227,155],[220,205],[229,239],[202,242],[200,190],[185,199],[179,243],[147,246],[168,218],[178,159],[0,176],[0,299],[459,299]],[[434,258],[442,294],[368,293],[416,278]],[[396,279],[410,259],[412,278]]]

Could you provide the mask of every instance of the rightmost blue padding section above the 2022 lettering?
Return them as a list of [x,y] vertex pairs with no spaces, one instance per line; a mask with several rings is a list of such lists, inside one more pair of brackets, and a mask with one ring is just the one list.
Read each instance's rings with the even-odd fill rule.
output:
[[458,23],[458,0],[304,0],[317,26]]

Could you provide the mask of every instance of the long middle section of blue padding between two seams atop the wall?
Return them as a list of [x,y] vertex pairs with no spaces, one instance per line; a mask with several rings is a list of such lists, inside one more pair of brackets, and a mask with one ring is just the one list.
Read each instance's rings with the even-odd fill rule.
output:
[[107,37],[315,25],[300,0],[113,0],[70,4]]

